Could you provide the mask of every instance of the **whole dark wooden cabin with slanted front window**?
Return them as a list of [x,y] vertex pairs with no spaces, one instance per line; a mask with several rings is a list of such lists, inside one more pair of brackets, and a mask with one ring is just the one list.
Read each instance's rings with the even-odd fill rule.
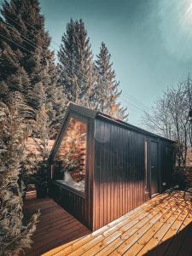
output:
[[49,156],[50,195],[90,230],[169,187],[174,142],[70,104]]

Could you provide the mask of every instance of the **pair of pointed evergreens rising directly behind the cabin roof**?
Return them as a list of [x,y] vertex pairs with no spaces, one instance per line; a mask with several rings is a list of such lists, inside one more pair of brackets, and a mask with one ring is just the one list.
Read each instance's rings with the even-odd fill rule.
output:
[[94,63],[90,38],[82,20],[70,20],[67,24],[58,57],[60,81],[68,101],[98,109],[118,119],[127,119],[126,108],[118,102],[121,91],[115,80],[111,55],[102,43]]

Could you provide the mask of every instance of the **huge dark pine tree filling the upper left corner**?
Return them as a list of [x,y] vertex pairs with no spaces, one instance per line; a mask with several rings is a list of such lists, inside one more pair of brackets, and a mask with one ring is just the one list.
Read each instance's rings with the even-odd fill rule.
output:
[[[20,91],[32,108],[44,104],[55,126],[61,122],[66,101],[38,0],[5,1],[1,13],[0,98],[6,102],[10,91]],[[38,90],[44,90],[43,98]]]

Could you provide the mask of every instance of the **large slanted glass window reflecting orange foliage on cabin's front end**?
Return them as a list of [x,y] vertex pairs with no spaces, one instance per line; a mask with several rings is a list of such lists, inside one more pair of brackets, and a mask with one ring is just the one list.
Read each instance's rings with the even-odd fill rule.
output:
[[70,118],[61,146],[55,156],[54,179],[84,192],[87,125]]

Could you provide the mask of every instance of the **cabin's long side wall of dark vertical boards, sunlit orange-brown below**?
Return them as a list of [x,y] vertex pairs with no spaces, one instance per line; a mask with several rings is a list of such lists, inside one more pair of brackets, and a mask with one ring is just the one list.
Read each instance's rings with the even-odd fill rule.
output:
[[[150,141],[158,143],[159,190],[161,151],[158,137],[144,134],[96,118],[93,229],[119,218],[150,199]],[[145,142],[148,145],[146,163]],[[160,150],[161,148],[161,150]],[[167,164],[167,163],[166,163]],[[167,164],[168,167],[168,164]],[[163,172],[164,173],[164,172]],[[166,173],[166,172],[165,172]]]

